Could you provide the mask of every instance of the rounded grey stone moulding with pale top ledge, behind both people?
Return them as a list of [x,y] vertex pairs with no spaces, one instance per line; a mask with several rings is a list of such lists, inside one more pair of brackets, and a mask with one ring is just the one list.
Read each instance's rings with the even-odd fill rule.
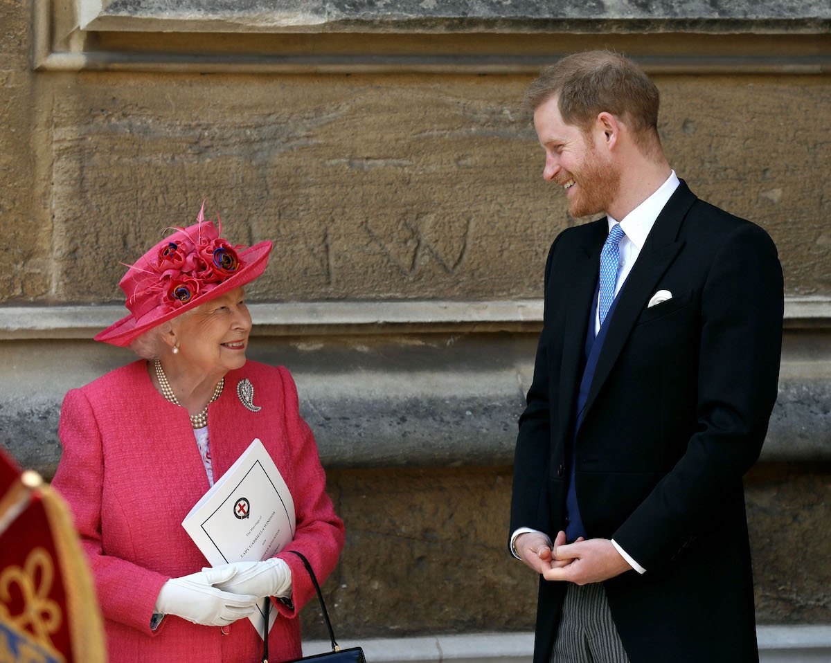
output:
[[[293,372],[330,468],[507,466],[542,302],[252,304],[249,356]],[[0,307],[0,444],[50,476],[63,395],[128,350],[91,336],[122,307]],[[762,460],[831,458],[831,300],[789,299]]]

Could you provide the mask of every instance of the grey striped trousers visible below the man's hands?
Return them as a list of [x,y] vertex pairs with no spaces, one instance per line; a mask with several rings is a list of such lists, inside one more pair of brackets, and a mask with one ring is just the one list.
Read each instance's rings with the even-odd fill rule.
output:
[[602,582],[568,585],[551,663],[629,663]]

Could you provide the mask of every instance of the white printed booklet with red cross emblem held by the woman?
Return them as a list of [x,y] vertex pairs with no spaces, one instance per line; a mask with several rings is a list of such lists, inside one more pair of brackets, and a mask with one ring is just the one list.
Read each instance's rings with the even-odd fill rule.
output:
[[[260,562],[294,538],[294,500],[277,465],[255,438],[190,509],[182,527],[211,566]],[[272,610],[268,631],[277,620]],[[263,606],[248,619],[263,636]]]

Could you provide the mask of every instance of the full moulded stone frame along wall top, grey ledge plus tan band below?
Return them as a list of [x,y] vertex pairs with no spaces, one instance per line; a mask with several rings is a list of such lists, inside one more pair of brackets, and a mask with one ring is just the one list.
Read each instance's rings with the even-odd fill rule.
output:
[[831,71],[824,40],[831,12],[816,0],[433,4],[241,0],[232,10],[218,0],[35,0],[33,64],[39,71],[534,76],[568,52],[609,47],[651,74]]

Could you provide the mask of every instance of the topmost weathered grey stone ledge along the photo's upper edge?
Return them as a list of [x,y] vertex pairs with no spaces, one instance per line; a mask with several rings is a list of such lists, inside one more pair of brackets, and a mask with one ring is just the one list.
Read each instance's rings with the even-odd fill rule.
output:
[[637,32],[679,28],[690,32],[823,29],[831,11],[818,0],[716,2],[480,2],[400,0],[79,0],[85,30],[199,32]]

